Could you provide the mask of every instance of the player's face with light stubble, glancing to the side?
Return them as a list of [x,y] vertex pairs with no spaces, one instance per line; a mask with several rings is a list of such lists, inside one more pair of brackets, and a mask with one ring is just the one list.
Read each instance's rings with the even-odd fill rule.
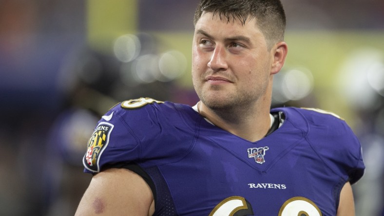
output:
[[256,19],[243,25],[203,13],[195,25],[192,44],[192,81],[209,108],[249,106],[271,85],[273,54],[267,50]]

